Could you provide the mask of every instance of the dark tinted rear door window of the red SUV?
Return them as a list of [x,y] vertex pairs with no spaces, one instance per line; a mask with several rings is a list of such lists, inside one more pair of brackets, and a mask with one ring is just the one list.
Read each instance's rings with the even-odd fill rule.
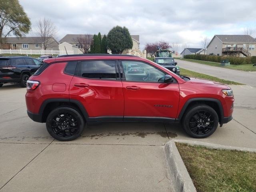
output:
[[116,61],[82,61],[80,76],[92,79],[116,80],[118,70],[116,70]]

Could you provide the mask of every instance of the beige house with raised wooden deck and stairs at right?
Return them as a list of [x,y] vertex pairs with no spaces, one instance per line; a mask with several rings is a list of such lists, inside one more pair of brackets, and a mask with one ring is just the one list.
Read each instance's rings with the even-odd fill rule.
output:
[[250,35],[214,35],[207,46],[208,55],[256,56],[256,39]]

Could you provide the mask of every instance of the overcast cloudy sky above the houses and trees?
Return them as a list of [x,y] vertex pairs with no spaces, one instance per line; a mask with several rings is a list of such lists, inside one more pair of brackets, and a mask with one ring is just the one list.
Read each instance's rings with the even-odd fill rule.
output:
[[[214,34],[243,34],[256,28],[255,0],[20,0],[32,22],[50,18],[66,34],[108,34],[116,25],[140,35],[140,47],[165,40],[201,48]],[[33,36],[33,30],[27,36]],[[255,36],[254,36],[255,37]]]

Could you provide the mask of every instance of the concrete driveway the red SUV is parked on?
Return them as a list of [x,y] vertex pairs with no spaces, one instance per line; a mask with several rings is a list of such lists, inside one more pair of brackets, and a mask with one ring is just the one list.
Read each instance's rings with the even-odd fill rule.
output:
[[[234,119],[199,141],[256,148],[256,88],[232,86]],[[26,88],[0,88],[0,192],[172,191],[163,146],[179,125],[101,123],[59,142],[26,114]],[[250,98],[250,99],[248,99]]]

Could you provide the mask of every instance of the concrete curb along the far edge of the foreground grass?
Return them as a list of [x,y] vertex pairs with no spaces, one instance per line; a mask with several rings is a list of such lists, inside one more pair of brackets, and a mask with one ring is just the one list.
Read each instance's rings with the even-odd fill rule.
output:
[[206,142],[201,142],[201,141],[191,141],[191,140],[182,140],[182,139],[173,139],[172,141],[178,142],[178,143],[186,143],[186,144],[190,144],[192,146],[204,146],[204,147],[212,148],[212,149],[226,149],[226,150],[256,152],[256,149],[253,149],[253,148],[232,147],[232,146],[226,146],[226,145],[206,143]]

